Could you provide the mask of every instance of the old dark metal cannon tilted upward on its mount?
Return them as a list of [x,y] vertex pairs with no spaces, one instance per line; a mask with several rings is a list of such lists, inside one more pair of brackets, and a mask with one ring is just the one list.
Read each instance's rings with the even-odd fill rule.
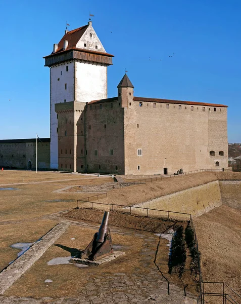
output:
[[113,253],[111,232],[108,227],[109,211],[105,211],[99,232],[95,233],[92,241],[81,253],[81,258],[94,261]]

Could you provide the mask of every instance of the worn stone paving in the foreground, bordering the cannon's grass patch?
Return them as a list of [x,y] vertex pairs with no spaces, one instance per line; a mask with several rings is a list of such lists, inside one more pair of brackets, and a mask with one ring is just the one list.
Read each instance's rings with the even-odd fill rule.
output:
[[[45,218],[62,220],[57,214],[45,216]],[[67,220],[71,225],[88,226],[98,229],[99,224]],[[122,229],[119,227],[111,227],[111,232],[120,235],[130,235],[143,240],[143,248],[141,249],[141,264],[143,268],[136,268],[134,274],[115,273],[113,275],[105,274],[100,276],[88,277],[88,283],[81,286],[78,295],[74,298],[24,298],[24,297],[5,297],[0,296],[2,304],[132,304],[132,303],[153,303],[155,295],[157,299],[162,298],[176,299],[173,301],[178,304],[194,304],[195,296],[189,295],[185,297],[183,289],[174,284],[169,284],[170,298],[168,295],[168,282],[163,278],[161,272],[154,263],[156,250],[158,246],[157,237],[153,233],[144,231],[136,231],[131,229]],[[131,244],[130,244],[131,246]],[[126,251],[127,248],[116,248],[115,250]],[[156,299],[155,299],[156,302]],[[169,303],[167,301],[159,301],[159,303]],[[170,302],[171,303],[171,302]]]

